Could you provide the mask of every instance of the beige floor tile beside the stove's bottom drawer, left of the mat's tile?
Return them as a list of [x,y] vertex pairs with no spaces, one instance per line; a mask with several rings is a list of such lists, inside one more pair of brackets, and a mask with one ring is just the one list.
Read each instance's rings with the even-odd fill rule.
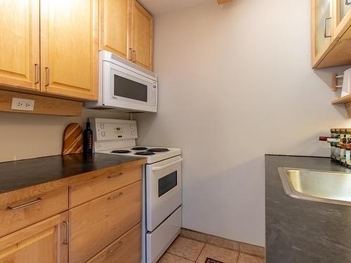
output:
[[174,241],[171,247],[168,248],[167,252],[195,261],[197,257],[199,257],[204,245],[204,242],[194,241],[190,238],[178,236],[176,241]]

